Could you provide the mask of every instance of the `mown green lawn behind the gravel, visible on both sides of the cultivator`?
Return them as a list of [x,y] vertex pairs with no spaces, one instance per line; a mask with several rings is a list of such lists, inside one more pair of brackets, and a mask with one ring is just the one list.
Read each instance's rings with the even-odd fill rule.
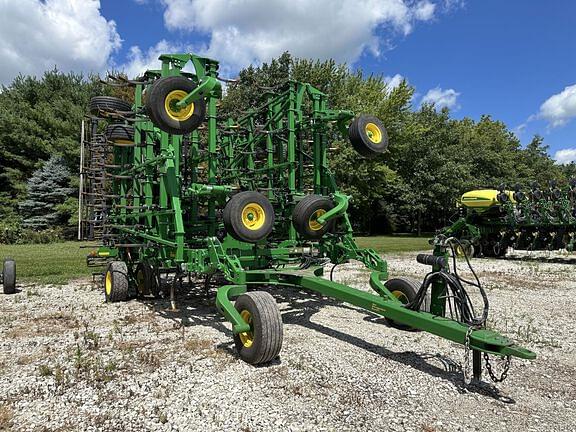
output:
[[[425,237],[358,237],[356,240],[359,246],[382,253],[430,249]],[[16,260],[16,273],[20,281],[65,284],[71,279],[92,274],[91,269],[86,267],[86,255],[90,249],[81,249],[82,244],[0,245],[0,260],[5,257]]]

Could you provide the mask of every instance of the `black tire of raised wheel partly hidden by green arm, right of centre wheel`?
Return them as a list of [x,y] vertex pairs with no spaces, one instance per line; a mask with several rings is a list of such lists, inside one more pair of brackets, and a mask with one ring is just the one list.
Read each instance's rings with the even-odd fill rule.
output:
[[334,230],[336,220],[332,219],[316,230],[312,229],[310,225],[313,223],[318,210],[328,211],[333,208],[334,203],[331,199],[322,195],[308,195],[300,200],[294,207],[292,224],[298,234],[303,238],[308,240],[320,239],[324,234]]

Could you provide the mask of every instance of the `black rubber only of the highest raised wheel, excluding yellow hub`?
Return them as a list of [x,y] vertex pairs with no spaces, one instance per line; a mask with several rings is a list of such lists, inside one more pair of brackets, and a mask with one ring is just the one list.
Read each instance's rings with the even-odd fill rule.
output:
[[158,78],[148,88],[146,97],[146,111],[150,120],[156,127],[175,135],[184,135],[197,129],[206,116],[206,101],[199,99],[194,102],[192,115],[183,120],[176,120],[168,115],[164,106],[166,97],[175,90],[190,93],[196,88],[196,84],[183,76],[171,76]]

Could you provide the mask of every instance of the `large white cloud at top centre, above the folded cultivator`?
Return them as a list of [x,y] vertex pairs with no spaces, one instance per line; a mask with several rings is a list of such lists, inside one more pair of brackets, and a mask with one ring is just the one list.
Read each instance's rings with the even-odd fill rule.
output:
[[[386,37],[434,18],[428,0],[162,0],[170,30],[209,36],[204,54],[233,70],[288,50],[297,57],[355,62],[379,55]],[[383,37],[382,35],[386,35]]]

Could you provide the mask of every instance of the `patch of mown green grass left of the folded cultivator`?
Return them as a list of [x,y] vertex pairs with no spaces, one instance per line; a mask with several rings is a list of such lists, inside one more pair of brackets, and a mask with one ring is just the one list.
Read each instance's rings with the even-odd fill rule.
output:
[[92,270],[86,267],[86,255],[90,249],[80,249],[82,244],[85,243],[0,244],[0,260],[7,257],[16,260],[18,281],[62,285],[71,279],[92,274]]

